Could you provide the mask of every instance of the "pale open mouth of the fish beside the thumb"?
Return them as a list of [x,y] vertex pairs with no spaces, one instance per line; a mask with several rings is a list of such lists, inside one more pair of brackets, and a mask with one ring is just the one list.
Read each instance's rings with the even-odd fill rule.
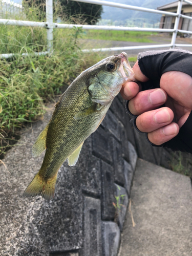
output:
[[119,56],[121,57],[121,65],[119,68],[121,75],[124,77],[125,81],[135,81],[135,74],[132,70],[127,54],[122,52]]

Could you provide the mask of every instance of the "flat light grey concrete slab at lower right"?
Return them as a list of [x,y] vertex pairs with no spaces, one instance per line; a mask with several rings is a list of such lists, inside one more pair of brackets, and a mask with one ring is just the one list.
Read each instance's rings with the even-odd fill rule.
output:
[[124,223],[119,256],[191,256],[190,179],[139,159]]

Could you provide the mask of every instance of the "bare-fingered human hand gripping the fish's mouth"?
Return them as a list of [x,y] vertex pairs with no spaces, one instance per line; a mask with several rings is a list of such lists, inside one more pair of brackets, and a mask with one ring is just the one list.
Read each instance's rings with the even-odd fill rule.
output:
[[[191,76],[181,71],[168,71],[154,81],[154,89],[141,91],[140,82],[147,83],[149,79],[141,72],[138,61],[133,70],[139,82],[125,83],[121,95],[129,100],[130,112],[138,116],[138,130],[147,133],[150,142],[156,145],[172,140],[178,135],[192,109]],[[157,83],[160,88],[157,88]],[[163,104],[165,106],[160,108]]]

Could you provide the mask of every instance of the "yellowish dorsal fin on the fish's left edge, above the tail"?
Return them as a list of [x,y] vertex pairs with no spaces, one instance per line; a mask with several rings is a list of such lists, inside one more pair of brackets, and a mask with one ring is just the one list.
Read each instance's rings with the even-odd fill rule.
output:
[[44,150],[46,150],[46,138],[47,138],[47,131],[49,128],[49,123],[46,125],[44,130],[39,134],[35,143],[32,146],[32,155],[34,157],[39,157]]

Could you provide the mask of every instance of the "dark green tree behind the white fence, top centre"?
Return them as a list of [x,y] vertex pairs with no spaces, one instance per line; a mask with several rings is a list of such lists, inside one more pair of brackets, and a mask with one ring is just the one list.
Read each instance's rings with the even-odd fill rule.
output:
[[87,23],[94,25],[97,20],[101,18],[103,11],[101,5],[93,5],[81,2],[74,2],[69,0],[59,0],[60,4],[64,8],[64,12],[68,18],[74,23]]

